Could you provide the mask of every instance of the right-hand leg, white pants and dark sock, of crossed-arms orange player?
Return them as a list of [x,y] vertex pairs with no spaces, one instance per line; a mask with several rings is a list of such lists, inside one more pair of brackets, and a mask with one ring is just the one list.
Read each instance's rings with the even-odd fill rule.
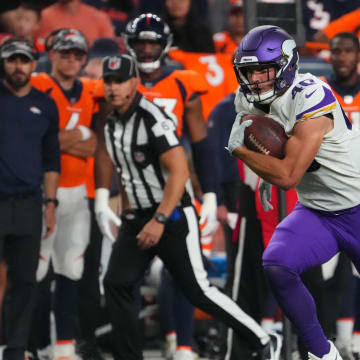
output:
[[84,185],[59,188],[58,233],[54,243],[54,315],[56,345],[54,358],[75,357],[75,320],[78,286],[84,266],[84,253],[90,236],[90,212]]

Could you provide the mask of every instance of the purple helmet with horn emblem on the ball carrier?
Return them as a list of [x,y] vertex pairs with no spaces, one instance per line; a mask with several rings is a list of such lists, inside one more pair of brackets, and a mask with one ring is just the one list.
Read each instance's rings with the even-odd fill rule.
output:
[[[248,102],[271,103],[281,92],[290,87],[298,70],[299,55],[294,39],[283,29],[263,25],[250,30],[234,54],[236,78]],[[274,66],[276,75],[273,89],[265,93],[251,90],[247,72],[251,66]],[[269,81],[272,79],[266,80]],[[258,83],[257,83],[258,84]]]

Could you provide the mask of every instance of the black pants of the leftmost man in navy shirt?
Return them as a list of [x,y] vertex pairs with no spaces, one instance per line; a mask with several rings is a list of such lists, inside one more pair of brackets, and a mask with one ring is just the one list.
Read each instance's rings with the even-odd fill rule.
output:
[[31,196],[0,198],[0,259],[7,264],[4,360],[24,360],[36,296],[42,205]]

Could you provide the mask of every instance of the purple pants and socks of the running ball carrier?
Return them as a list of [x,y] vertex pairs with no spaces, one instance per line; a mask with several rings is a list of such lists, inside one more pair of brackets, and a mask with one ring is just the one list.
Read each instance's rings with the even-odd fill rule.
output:
[[263,254],[265,274],[284,314],[309,351],[320,358],[330,351],[330,345],[300,274],[327,262],[339,251],[344,251],[360,270],[360,205],[322,212],[298,203],[276,227]]

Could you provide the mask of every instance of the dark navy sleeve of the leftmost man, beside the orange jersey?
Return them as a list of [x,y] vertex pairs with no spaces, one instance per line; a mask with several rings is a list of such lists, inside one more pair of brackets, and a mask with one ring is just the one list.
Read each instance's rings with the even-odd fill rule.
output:
[[42,143],[44,172],[60,173],[59,114],[55,102],[49,98],[49,127]]

